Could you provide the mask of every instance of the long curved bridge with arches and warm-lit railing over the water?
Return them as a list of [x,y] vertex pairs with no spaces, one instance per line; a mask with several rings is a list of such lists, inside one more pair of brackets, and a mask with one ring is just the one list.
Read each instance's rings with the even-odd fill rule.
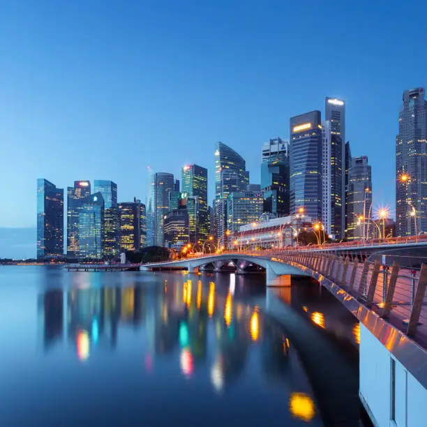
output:
[[[427,242],[400,244],[426,248]],[[245,274],[248,266],[257,264],[266,271],[267,286],[290,286],[290,276],[314,278],[360,322],[359,397],[373,424],[424,426],[427,264],[405,267],[396,256],[382,263],[373,256],[381,250],[377,245],[370,253],[366,246],[365,253],[350,253],[348,246],[230,252],[144,264],[141,269],[188,269],[194,274],[207,264],[220,271],[232,263],[237,274]],[[265,309],[269,312],[268,300]]]

